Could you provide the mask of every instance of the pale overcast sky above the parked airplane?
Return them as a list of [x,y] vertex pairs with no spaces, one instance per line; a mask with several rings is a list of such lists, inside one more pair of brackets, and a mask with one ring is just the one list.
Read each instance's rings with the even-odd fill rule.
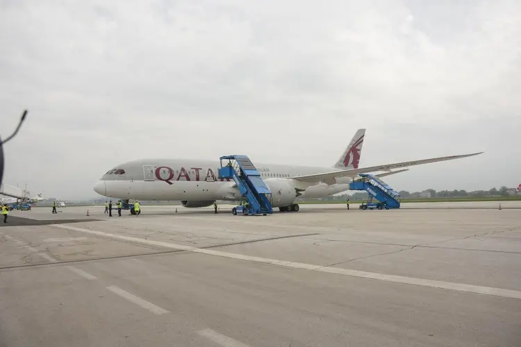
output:
[[521,2],[0,0],[4,183],[97,196],[150,157],[413,167],[396,189],[521,183]]

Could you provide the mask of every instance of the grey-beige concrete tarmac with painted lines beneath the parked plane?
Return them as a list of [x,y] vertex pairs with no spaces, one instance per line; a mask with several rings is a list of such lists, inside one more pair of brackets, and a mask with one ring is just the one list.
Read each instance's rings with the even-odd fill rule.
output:
[[501,205],[13,211],[0,346],[521,346],[521,202]]

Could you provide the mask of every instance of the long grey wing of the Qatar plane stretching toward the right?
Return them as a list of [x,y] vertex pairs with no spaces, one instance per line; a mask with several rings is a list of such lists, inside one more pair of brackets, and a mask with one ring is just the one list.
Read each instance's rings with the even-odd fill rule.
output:
[[412,162],[396,162],[394,164],[384,164],[384,165],[378,165],[375,167],[362,167],[360,169],[332,171],[332,172],[326,172],[324,174],[295,176],[295,177],[292,177],[292,179],[299,180],[301,182],[307,182],[307,183],[315,183],[315,182],[322,181],[324,183],[327,183],[328,185],[332,185],[333,183],[335,183],[336,177],[355,177],[358,174],[367,174],[369,172],[374,172],[374,171],[390,171],[391,169],[412,167],[414,165],[429,164],[429,162],[444,162],[445,160],[454,160],[454,159],[472,157],[473,155],[478,155],[481,153],[483,153],[483,152],[472,153],[472,154],[463,154],[463,155],[449,155],[448,157],[414,160]]

